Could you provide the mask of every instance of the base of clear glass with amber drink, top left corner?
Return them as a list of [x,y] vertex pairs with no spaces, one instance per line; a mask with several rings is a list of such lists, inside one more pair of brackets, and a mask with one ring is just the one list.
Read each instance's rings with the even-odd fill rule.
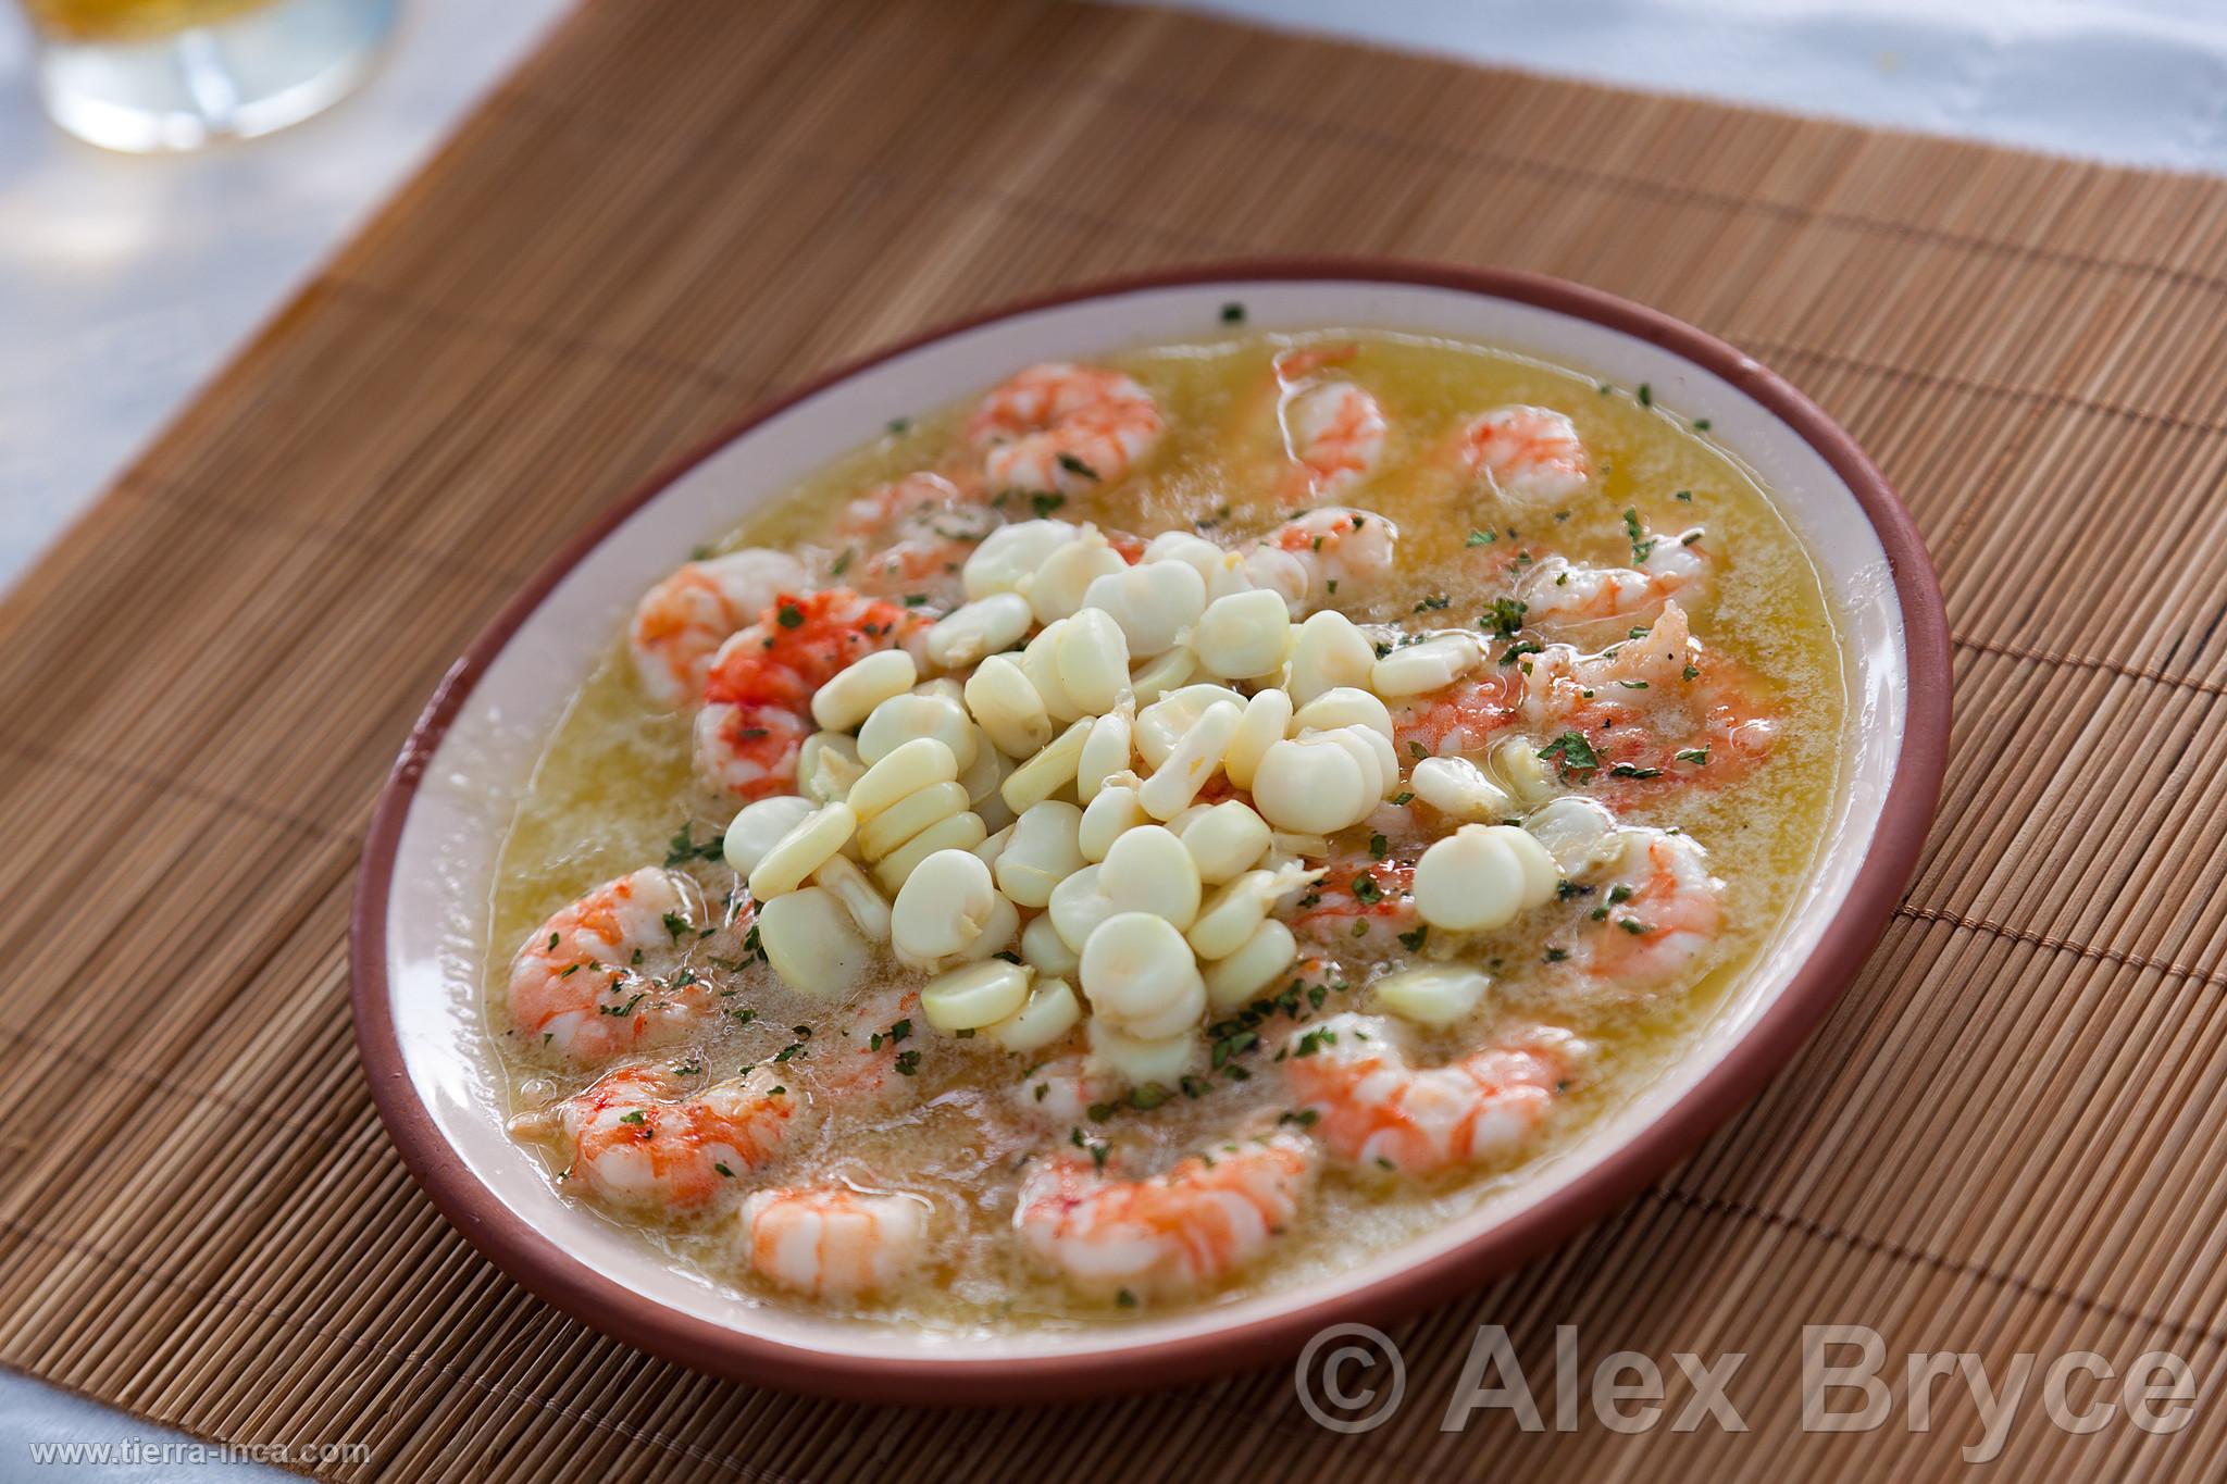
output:
[[109,149],[269,133],[352,89],[399,0],[24,0],[47,113]]

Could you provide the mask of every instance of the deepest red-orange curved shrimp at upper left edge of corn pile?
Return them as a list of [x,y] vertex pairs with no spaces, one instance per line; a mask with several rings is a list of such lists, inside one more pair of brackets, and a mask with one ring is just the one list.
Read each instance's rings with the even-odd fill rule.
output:
[[815,730],[813,692],[860,656],[913,639],[922,623],[848,587],[779,594],[713,659],[695,723],[697,772],[735,799],[795,792],[797,748]]

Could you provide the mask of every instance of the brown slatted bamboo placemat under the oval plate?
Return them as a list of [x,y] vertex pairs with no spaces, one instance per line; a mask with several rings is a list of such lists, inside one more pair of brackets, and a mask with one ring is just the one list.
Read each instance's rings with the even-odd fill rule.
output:
[[[1563,274],[1784,369],[1924,527],[1958,745],[1886,943],[1762,1101],[1557,1257],[1396,1330],[1336,1437],[1287,1368],[1065,1411],[833,1406],[610,1344],[403,1175],[350,1043],[372,794],[503,596],[742,407],[946,316],[1240,254]],[[0,605],[0,1362],[341,1477],[1937,1473],[1900,1357],[2227,1344],[2227,182],[1149,11],[608,0]],[[1441,1433],[1503,1324],[1746,1351],[1750,1433]],[[1893,1417],[1799,1422],[1799,1326]],[[2031,1391],[2040,1391],[2035,1371]],[[2076,1388],[2078,1391],[2078,1388]],[[1851,1404],[1846,1397],[1837,1406]],[[2227,1426],[2007,1477],[2218,1475]],[[0,1462],[9,1473],[13,1460]]]

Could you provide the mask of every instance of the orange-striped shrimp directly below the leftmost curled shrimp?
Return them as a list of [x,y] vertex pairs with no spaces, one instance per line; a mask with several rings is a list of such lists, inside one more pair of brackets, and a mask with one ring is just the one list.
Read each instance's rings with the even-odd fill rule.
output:
[[[702,1092],[681,1092],[679,1075],[628,1066],[568,1097],[555,1110],[572,1148],[568,1181],[624,1208],[699,1210],[742,1177],[764,1168],[788,1137],[804,1097],[782,1086],[779,1068],[757,1068]],[[548,1137],[550,1115],[519,1119],[523,1137]]]

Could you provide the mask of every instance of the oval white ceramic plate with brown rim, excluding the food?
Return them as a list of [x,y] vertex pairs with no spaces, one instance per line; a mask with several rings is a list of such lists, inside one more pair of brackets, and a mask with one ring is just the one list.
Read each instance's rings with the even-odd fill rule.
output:
[[[891,418],[1016,367],[1249,329],[1370,327],[1534,354],[1706,416],[1806,538],[1840,598],[1855,716],[1824,857],[1762,968],[1690,1055],[1512,1190],[1336,1284],[1004,1337],[755,1306],[557,1195],[503,1132],[477,977],[488,883],[532,759],[635,596]],[[1635,1195],[1782,1066],[1871,952],[1924,841],[1949,741],[1949,634],[1909,512],[1831,418],[1730,345],[1550,278],[1267,263],[1114,283],[900,345],[753,414],[559,554],[428,705],[379,801],[354,910],[356,1039],[410,1170],[490,1259],[646,1351],[877,1402],[1013,1402],[1169,1384],[1281,1357],[1341,1319],[1387,1322],[1481,1284]]]

